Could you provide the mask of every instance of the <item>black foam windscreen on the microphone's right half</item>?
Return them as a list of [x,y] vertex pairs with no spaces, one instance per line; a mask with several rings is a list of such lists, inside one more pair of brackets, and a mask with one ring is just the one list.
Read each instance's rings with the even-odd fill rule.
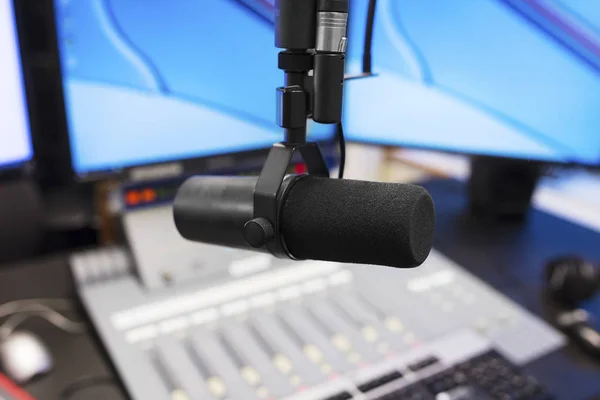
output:
[[306,176],[281,211],[285,243],[300,259],[416,267],[434,228],[433,200],[416,185]]

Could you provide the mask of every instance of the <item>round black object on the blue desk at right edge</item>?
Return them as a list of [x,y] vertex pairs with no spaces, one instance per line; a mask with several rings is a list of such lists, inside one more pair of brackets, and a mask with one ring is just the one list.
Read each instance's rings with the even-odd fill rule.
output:
[[579,256],[558,257],[546,265],[546,285],[555,299],[577,306],[600,288],[600,267]]

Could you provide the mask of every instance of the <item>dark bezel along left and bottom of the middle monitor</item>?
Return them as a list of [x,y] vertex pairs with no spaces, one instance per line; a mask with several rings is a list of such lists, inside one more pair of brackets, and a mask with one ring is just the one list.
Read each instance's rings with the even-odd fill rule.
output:
[[[16,0],[15,0],[16,1]],[[64,84],[63,84],[63,65],[60,53],[59,46],[59,32],[56,21],[56,10],[55,10],[55,2],[59,0],[48,0],[50,6],[47,8],[46,12],[48,13],[47,17],[49,19],[49,24],[51,25],[51,36],[52,36],[52,53],[53,53],[53,63],[57,66],[56,68],[56,77],[54,79],[58,83],[57,85],[57,97],[56,101],[59,101],[62,104],[61,108],[61,118],[60,118],[60,133],[62,135],[61,143],[65,143],[62,147],[62,157],[66,157],[68,159],[68,168],[69,174],[76,182],[88,183],[88,182],[98,182],[102,180],[119,180],[126,183],[130,182],[139,182],[140,180],[135,178],[135,175],[140,169],[152,169],[158,168],[161,166],[165,168],[177,164],[178,168],[180,168],[181,172],[178,174],[173,174],[168,176],[168,178],[177,178],[181,176],[189,176],[194,174],[219,174],[226,172],[234,172],[237,170],[247,171],[251,169],[261,168],[264,160],[266,159],[271,145],[265,147],[259,147],[255,149],[249,149],[245,151],[232,151],[219,153],[209,156],[198,156],[198,157],[188,157],[188,158],[173,158],[168,160],[161,160],[157,162],[149,162],[149,163],[140,163],[123,166],[121,168],[111,168],[104,170],[94,170],[85,173],[81,173],[75,170],[73,166],[73,154],[71,151],[71,141],[70,141],[70,129],[68,122],[68,110],[65,102],[64,96]],[[282,84],[283,84],[283,73],[282,73]],[[275,96],[275,88],[273,88],[273,96]],[[273,124],[275,124],[275,116],[273,117]],[[281,139],[283,140],[283,129],[281,129]],[[337,135],[335,125],[331,127],[331,137],[326,140],[318,141],[319,146],[321,147],[324,155],[330,156],[334,155],[336,157],[337,154]],[[164,176],[157,176],[156,179],[163,179]]]

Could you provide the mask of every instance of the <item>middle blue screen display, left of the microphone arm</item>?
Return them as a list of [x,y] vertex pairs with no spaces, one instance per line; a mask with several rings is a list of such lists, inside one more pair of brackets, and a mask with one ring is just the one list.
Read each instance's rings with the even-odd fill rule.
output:
[[[56,0],[55,10],[77,173],[283,139],[272,0]],[[310,140],[332,135],[310,124]]]

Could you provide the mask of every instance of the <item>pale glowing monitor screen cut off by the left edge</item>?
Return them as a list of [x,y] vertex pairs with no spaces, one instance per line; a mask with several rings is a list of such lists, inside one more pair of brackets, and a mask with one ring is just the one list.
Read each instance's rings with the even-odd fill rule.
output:
[[0,2],[0,174],[33,155],[21,55],[12,1]]

